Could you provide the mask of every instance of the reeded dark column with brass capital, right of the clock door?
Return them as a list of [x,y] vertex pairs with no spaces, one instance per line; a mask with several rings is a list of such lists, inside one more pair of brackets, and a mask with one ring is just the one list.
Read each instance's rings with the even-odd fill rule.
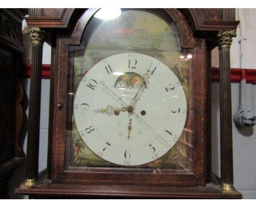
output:
[[219,91],[220,91],[220,188],[234,190],[232,151],[232,112],[230,82],[230,45],[235,31],[220,31],[219,47]]

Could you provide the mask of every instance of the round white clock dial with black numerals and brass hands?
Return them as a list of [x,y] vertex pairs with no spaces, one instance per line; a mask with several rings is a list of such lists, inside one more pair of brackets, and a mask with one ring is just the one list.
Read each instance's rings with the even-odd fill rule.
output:
[[83,77],[74,99],[80,137],[99,157],[138,166],[166,154],[187,118],[176,75],[158,59],[120,53],[101,60]]

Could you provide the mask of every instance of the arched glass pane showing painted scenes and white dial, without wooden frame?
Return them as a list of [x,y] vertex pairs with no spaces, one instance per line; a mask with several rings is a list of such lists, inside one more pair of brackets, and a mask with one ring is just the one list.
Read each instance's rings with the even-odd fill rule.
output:
[[66,166],[191,173],[189,52],[162,11],[99,10],[69,46]]

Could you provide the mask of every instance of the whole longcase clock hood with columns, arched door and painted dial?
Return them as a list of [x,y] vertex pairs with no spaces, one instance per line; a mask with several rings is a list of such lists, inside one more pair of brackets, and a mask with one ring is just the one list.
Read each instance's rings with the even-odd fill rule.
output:
[[[38,177],[38,130],[29,129],[27,179],[17,193],[241,198],[230,100],[220,103],[222,176],[211,172],[210,54],[219,47],[220,96],[230,99],[233,9],[30,9],[26,20],[38,55],[32,88],[40,85],[43,41],[53,48],[48,176]],[[33,126],[40,92],[31,96]]]

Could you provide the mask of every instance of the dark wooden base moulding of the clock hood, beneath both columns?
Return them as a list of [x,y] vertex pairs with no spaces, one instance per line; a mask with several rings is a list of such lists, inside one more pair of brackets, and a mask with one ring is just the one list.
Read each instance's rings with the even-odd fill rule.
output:
[[216,183],[207,186],[64,185],[44,181],[34,189],[16,189],[35,199],[241,199],[238,192],[223,193]]

